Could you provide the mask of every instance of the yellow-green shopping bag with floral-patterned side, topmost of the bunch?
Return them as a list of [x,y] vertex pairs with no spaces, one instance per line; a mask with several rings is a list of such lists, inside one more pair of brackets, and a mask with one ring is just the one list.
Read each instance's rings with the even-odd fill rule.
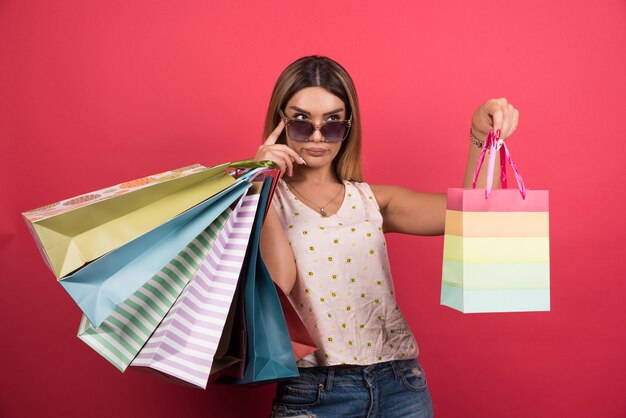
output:
[[226,168],[194,165],[23,213],[57,279],[226,189]]

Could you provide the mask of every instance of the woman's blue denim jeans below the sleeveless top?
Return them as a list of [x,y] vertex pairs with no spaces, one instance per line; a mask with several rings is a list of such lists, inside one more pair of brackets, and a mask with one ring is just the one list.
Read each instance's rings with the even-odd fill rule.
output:
[[307,367],[278,382],[272,417],[431,418],[426,376],[417,360],[370,366]]

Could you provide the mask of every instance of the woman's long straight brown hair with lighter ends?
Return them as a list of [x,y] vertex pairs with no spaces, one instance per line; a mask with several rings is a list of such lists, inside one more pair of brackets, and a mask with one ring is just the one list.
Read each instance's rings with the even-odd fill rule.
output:
[[[333,160],[333,169],[339,179],[363,181],[361,168],[361,115],[359,101],[352,78],[347,71],[330,58],[313,55],[290,64],[281,73],[270,99],[265,118],[263,139],[267,138],[280,122],[279,109],[284,111],[287,102],[298,91],[307,87],[322,87],[339,97],[346,105],[346,118],[352,117],[352,127],[343,141],[339,154]],[[285,143],[284,134],[277,141]]]

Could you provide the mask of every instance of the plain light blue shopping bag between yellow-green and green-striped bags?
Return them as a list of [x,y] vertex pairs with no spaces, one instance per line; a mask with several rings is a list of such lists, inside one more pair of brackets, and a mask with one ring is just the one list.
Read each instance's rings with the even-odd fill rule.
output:
[[111,251],[59,281],[89,321],[99,327],[115,309],[159,272],[250,187],[226,190]]

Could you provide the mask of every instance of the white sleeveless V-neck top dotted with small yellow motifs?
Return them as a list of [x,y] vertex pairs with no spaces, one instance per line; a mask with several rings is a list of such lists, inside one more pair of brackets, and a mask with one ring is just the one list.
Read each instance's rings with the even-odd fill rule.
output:
[[296,261],[289,300],[318,347],[299,367],[369,365],[418,354],[396,303],[378,203],[367,183],[344,185],[342,205],[328,217],[306,206],[282,179],[273,198]]

